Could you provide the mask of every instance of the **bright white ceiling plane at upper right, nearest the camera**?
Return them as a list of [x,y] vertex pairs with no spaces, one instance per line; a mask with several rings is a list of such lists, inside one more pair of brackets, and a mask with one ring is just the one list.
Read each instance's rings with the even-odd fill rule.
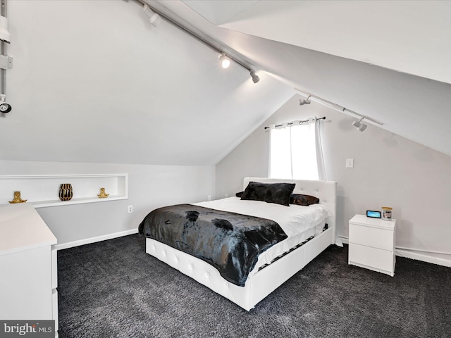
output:
[[183,2],[219,27],[451,83],[450,1]]

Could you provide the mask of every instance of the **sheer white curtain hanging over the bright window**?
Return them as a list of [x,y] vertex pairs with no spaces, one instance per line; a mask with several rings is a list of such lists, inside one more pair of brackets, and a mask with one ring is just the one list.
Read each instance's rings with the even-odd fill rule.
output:
[[271,125],[269,177],[326,180],[319,121]]

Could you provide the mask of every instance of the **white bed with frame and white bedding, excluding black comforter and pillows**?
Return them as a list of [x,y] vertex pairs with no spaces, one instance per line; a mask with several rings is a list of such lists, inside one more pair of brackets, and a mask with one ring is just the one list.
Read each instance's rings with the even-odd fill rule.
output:
[[[259,301],[271,294],[292,275],[302,270],[330,244],[335,243],[336,219],[336,182],[245,177],[243,191],[247,191],[249,182],[295,184],[292,194],[315,196],[319,199],[319,204],[276,206],[265,201],[242,201],[237,196],[192,204],[193,208],[195,206],[200,208],[199,210],[211,208],[217,210],[218,213],[225,211],[274,220],[287,233],[287,238],[284,237],[278,242],[273,241],[271,246],[259,254],[242,284],[231,281],[227,276],[224,277],[224,274],[214,264],[209,263],[208,259],[194,257],[180,248],[175,249],[159,240],[146,238],[146,252],[151,256],[192,277],[246,311],[254,308]],[[301,209],[302,215],[298,215]],[[304,216],[304,212],[306,215],[307,213],[313,213],[313,215],[307,217]],[[311,224],[302,225],[302,230],[297,230],[297,225],[285,224],[285,218],[294,219],[290,215],[291,213],[299,222],[302,220],[305,223],[305,220],[308,220],[307,222]],[[142,224],[146,219],[144,218]],[[140,225],[140,233],[143,233],[142,225]]]

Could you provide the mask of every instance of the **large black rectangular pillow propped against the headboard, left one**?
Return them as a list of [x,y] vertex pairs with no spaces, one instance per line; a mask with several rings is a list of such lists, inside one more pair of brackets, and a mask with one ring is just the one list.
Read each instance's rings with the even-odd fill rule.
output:
[[295,185],[295,183],[249,182],[241,199],[290,206],[290,196]]

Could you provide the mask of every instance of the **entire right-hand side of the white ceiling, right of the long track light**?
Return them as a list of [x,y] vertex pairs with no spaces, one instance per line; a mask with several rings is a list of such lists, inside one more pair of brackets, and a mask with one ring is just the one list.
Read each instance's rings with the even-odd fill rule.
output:
[[235,2],[160,1],[290,86],[451,155],[451,1]]

